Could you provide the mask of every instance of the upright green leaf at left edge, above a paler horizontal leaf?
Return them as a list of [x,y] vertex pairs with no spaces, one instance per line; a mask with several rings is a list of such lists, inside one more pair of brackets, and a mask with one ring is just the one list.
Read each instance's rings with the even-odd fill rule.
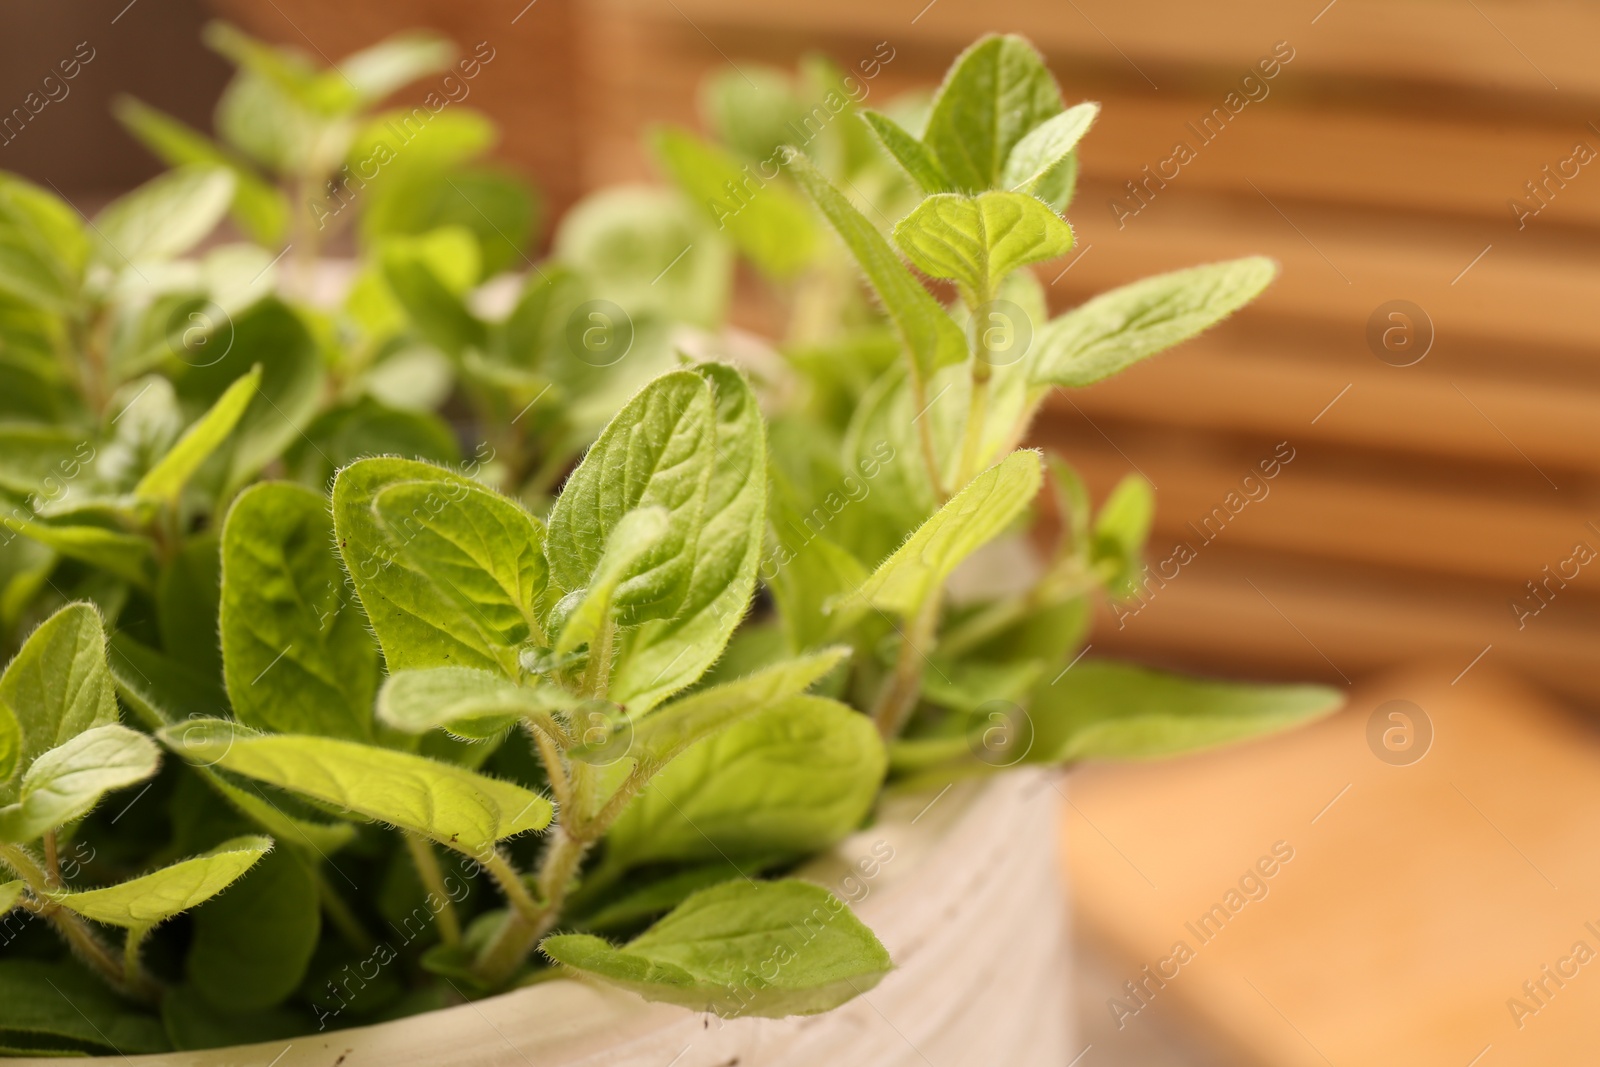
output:
[[70,603],[45,619],[0,675],[0,705],[21,728],[21,760],[0,781],[0,801],[19,795],[18,769],[86,729],[117,721],[117,694],[106,667],[106,629],[99,611]]

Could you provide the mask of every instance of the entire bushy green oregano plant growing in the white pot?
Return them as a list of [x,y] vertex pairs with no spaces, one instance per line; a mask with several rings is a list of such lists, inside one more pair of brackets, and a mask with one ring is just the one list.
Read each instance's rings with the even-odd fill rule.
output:
[[[213,43],[242,67],[227,147],[128,106],[178,170],[93,224],[0,186],[0,611],[27,633],[0,677],[0,1049],[262,1040],[560,973],[827,1011],[893,963],[797,865],[883,789],[1338,704],[1078,661],[1094,600],[1141,574],[1150,493],[1091,509],[1019,448],[1029,422],[1274,266],[1051,318],[1029,267],[1072,246],[1096,106],[1066,107],[1024,40],[883,112],[824,61],[717,80],[714,139],[653,136],[672,189],[592,197],[488,291],[504,256],[416,198],[462,179],[470,138],[438,126],[451,147],[395,171],[426,211],[368,203],[338,307],[278,296],[269,248],[178,256],[229,208],[277,240],[296,211],[256,168],[325,181],[362,109],[448,53],[405,37],[317,70]],[[773,117],[808,114],[829,122],[802,150]],[[726,323],[744,262],[789,314],[776,347]],[[226,330],[186,347],[174,307]],[[1037,573],[955,597],[990,545]]]

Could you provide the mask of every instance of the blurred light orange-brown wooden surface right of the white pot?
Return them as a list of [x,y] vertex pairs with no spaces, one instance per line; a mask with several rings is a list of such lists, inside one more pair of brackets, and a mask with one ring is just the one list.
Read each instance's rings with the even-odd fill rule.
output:
[[[1115,960],[1080,990],[1098,1005],[1086,1037],[1106,1062],[1131,1062],[1118,1059],[1123,1037],[1194,1017],[1235,1064],[1592,1062],[1600,736],[1493,669],[1450,675],[1390,673],[1291,736],[1069,779],[1074,893]],[[1368,747],[1368,717],[1394,699],[1434,726],[1410,766]],[[1190,925],[1278,841],[1293,859],[1266,896],[1202,944]],[[1147,1006],[1131,1001],[1122,984],[1176,941],[1194,958],[1150,987]],[[1547,984],[1536,1014],[1514,1016],[1507,1000],[1538,1006],[1523,982],[1579,941],[1595,960]],[[1112,997],[1139,1011],[1114,1011]]]

